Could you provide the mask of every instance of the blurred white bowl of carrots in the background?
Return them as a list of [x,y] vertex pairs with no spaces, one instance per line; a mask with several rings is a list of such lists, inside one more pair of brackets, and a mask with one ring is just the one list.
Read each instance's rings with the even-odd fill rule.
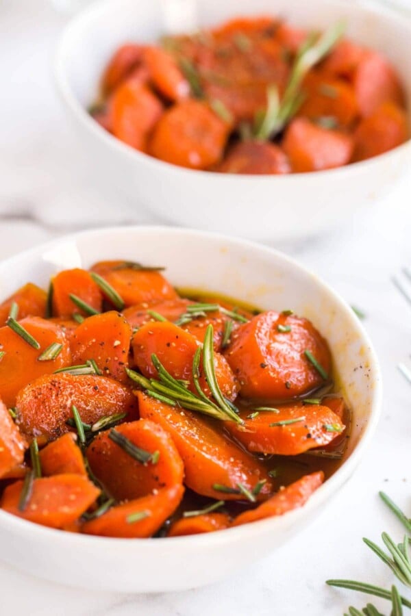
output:
[[[277,14],[308,29],[345,18],[348,34],[386,53],[411,94],[411,20],[383,8],[338,0],[199,0],[199,24],[239,14]],[[377,4],[377,3],[375,3]],[[153,41],[164,32],[164,0],[106,0],[66,28],[55,57],[55,79],[79,134],[79,146],[101,177],[164,220],[258,240],[317,233],[385,194],[410,164],[410,142],[336,170],[286,176],[240,176],[189,170],[140,153],[104,131],[86,109],[103,67],[125,41]],[[409,97],[411,99],[411,97]],[[103,190],[103,189],[102,189]]]

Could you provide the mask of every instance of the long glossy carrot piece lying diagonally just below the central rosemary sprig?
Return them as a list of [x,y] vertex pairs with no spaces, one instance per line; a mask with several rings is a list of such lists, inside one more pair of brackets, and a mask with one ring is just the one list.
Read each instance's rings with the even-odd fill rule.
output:
[[234,444],[222,431],[221,424],[164,405],[142,392],[137,397],[140,416],[160,424],[171,435],[184,462],[187,487],[203,496],[239,500],[242,497],[238,493],[222,493],[213,486],[236,489],[242,483],[252,490],[265,479],[258,498],[266,498],[270,493],[271,481],[264,466]]

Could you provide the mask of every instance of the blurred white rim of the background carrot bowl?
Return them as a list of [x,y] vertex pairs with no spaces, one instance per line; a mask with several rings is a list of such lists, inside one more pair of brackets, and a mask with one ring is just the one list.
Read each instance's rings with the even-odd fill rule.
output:
[[[66,72],[64,70],[64,57],[67,55],[67,50],[70,49],[71,47],[71,37],[73,36],[75,31],[79,28],[80,25],[82,25],[82,23],[93,21],[94,16],[96,14],[100,12],[104,12],[105,8],[109,8],[110,5],[115,4],[115,3],[116,3],[116,0],[103,0],[102,2],[96,3],[95,5],[90,5],[89,7],[85,8],[82,12],[80,12],[77,16],[75,16],[70,21],[70,23],[64,29],[62,37],[60,38],[60,42],[58,43],[58,47],[55,53],[55,58],[54,58],[54,63],[53,63],[53,74],[55,77],[55,84],[57,85],[58,92],[60,92],[60,95],[62,96],[62,98],[66,101],[69,107],[71,107],[73,114],[75,114],[79,122],[86,129],[89,129],[90,131],[92,131],[92,133],[95,134],[97,139],[101,140],[103,144],[106,144],[109,147],[114,148],[116,151],[118,151],[119,153],[127,157],[135,157],[136,160],[143,159],[147,164],[150,164],[151,166],[153,166],[153,168],[161,169],[161,168],[164,168],[164,166],[166,168],[171,167],[173,168],[175,173],[182,175],[182,177],[184,177],[184,175],[186,175],[187,173],[188,174],[201,174],[201,175],[206,173],[212,176],[213,181],[220,182],[222,184],[224,182],[231,181],[233,176],[236,177],[238,182],[243,182],[243,183],[249,183],[249,182],[255,182],[255,181],[258,181],[259,183],[261,182],[286,183],[286,182],[295,181],[297,177],[301,177],[301,176],[303,176],[306,181],[307,179],[312,178],[312,181],[314,182],[315,178],[318,177],[319,174],[321,175],[327,174],[327,176],[333,176],[334,174],[338,174],[338,175],[343,175],[343,177],[344,175],[347,175],[347,174],[349,174],[349,177],[351,177],[353,173],[356,173],[356,175],[361,174],[362,168],[364,168],[364,166],[373,165],[373,163],[375,163],[376,160],[378,161],[382,157],[387,158],[390,155],[392,155],[393,152],[401,151],[402,149],[409,146],[410,139],[406,141],[405,143],[397,146],[393,150],[390,150],[388,152],[385,152],[383,154],[380,154],[378,156],[375,156],[373,158],[370,158],[364,161],[351,163],[349,165],[345,165],[343,167],[338,167],[335,169],[325,169],[325,170],[316,171],[316,172],[297,172],[297,173],[284,174],[284,175],[241,175],[241,174],[233,174],[233,173],[216,173],[216,172],[210,172],[210,171],[204,171],[204,170],[189,169],[189,168],[184,168],[178,165],[171,164],[169,162],[162,161],[160,159],[156,159],[153,156],[149,156],[148,154],[142,153],[132,148],[132,146],[129,146],[128,144],[117,139],[116,137],[108,133],[108,131],[105,131],[105,129],[103,129],[90,116],[90,114],[88,114],[87,110],[85,110],[84,107],[80,105],[79,101],[77,101],[75,94],[73,94],[69,80],[67,79]],[[384,18],[384,15],[389,16],[390,19],[392,19],[393,21],[396,21],[398,25],[403,26],[404,16],[402,14],[395,12],[393,8],[389,8],[388,6],[384,6],[384,5],[379,5],[379,6],[374,5],[371,7],[371,5],[364,3],[364,2],[358,3],[358,5],[361,8],[369,10],[373,13],[381,14],[382,18]],[[411,18],[408,21],[410,22],[410,25],[411,25]],[[411,31],[410,31],[410,34],[411,34]],[[332,179],[332,177],[330,177],[330,179]]]

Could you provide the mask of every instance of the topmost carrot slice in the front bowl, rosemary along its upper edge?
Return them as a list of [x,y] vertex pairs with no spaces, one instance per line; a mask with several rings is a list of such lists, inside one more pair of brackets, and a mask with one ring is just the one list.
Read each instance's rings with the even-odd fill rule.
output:
[[91,269],[99,273],[116,290],[125,306],[178,299],[177,293],[160,272],[127,267],[127,262],[119,261],[112,269],[106,269],[101,273],[102,269],[108,268],[106,263],[105,261],[103,266],[96,264]]

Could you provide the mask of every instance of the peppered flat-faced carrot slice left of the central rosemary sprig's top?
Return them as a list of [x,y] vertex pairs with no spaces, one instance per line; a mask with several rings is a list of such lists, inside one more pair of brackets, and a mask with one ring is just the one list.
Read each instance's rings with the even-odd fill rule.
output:
[[116,381],[127,381],[125,368],[132,328],[121,314],[115,311],[97,314],[84,320],[73,334],[71,350],[74,364],[94,359],[105,376]]

